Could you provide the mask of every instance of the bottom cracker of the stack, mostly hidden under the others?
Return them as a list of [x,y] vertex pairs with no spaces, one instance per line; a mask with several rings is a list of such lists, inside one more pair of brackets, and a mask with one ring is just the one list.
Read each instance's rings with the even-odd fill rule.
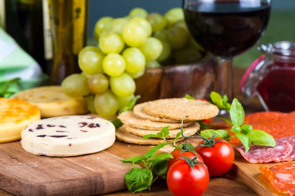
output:
[[[142,137],[138,135],[134,135],[129,133],[123,127],[120,127],[116,130],[116,138],[119,141],[131,143],[131,144],[139,144],[139,145],[158,145],[162,142],[166,142],[165,140],[157,139],[157,138],[148,138],[144,140]],[[183,138],[179,138],[177,142],[182,141]]]

